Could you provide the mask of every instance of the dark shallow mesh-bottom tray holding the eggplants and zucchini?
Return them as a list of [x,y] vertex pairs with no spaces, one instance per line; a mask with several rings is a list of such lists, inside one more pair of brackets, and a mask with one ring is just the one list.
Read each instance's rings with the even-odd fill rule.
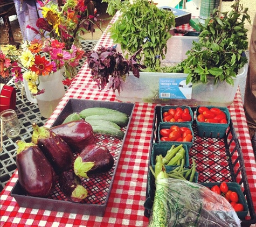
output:
[[16,185],[11,190],[11,196],[15,198],[20,207],[96,216],[103,216],[105,214],[110,191],[115,178],[116,168],[122,151],[122,146],[124,140],[126,139],[130,120],[132,119],[134,104],[70,99],[52,126],[61,124],[63,120],[73,112],[80,112],[81,110],[91,107],[105,107],[119,110],[130,116],[127,127],[122,128],[122,130],[125,131],[123,140],[108,136],[95,135],[96,144],[107,146],[109,151],[113,154],[114,167],[107,173],[99,174],[94,178],[82,179],[82,183],[88,190],[88,196],[81,203],[68,201],[63,192],[60,190],[58,183],[55,190],[50,194],[49,197],[40,198],[27,195],[20,186],[19,181],[17,181]]

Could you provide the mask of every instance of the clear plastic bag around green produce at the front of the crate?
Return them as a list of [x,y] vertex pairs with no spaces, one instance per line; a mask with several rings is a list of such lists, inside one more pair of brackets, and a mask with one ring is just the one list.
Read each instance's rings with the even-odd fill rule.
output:
[[156,181],[149,226],[241,226],[225,197],[198,183],[178,179]]

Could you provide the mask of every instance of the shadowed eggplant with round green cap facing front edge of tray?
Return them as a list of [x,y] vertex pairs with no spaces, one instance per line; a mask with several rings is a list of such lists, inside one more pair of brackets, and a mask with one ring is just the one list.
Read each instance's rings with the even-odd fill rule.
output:
[[86,188],[82,186],[81,179],[72,169],[59,174],[59,186],[68,200],[72,202],[78,203],[87,197]]

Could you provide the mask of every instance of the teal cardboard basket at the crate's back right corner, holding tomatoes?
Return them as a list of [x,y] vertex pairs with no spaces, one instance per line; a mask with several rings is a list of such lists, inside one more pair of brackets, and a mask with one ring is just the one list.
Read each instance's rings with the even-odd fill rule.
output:
[[[220,123],[207,123],[207,122],[198,122],[197,116],[199,115],[198,109],[196,109],[196,124],[198,129],[198,134],[200,137],[210,137],[210,138],[223,138],[227,127],[230,124],[230,112],[229,109],[226,107],[217,107],[222,110],[226,114],[227,124],[220,124]],[[207,108],[215,107],[213,105],[206,106]]]

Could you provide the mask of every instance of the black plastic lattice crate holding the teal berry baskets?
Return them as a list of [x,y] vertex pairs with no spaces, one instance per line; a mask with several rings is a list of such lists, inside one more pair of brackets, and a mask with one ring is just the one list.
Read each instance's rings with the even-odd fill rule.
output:
[[[193,112],[196,108],[191,108]],[[149,166],[151,150],[153,143],[158,143],[158,125],[161,122],[161,106],[155,107],[153,131],[151,135],[151,145],[149,152]],[[224,138],[206,138],[199,137],[197,131],[196,120],[192,124],[194,132],[193,145],[189,151],[189,157],[191,157],[197,163],[198,172],[198,183],[209,183],[209,182],[238,182],[243,188],[243,194],[245,195],[246,202],[248,204],[248,211],[251,217],[250,220],[241,219],[241,226],[250,226],[256,223],[256,215],[253,207],[252,196],[248,185],[248,180],[245,171],[245,164],[243,153],[237,138],[236,132],[234,131],[232,119],[230,125],[225,133]],[[231,150],[232,148],[232,150]],[[191,164],[191,163],[190,163]],[[152,208],[154,201],[154,181],[148,171],[148,182],[146,191],[146,202],[144,203],[144,215],[150,216],[150,209]],[[237,180],[239,176],[239,179]]]

